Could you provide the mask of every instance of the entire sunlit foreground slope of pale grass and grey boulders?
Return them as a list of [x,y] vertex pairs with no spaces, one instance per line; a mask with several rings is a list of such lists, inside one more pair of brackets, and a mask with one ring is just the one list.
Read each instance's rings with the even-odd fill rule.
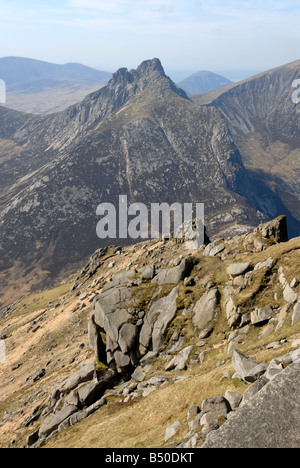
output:
[[299,448],[300,238],[187,247],[98,249],[3,311],[3,446]]

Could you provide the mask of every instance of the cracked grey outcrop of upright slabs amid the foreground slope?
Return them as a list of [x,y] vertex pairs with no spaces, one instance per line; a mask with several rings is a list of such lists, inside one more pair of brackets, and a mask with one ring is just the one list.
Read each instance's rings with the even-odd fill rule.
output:
[[[175,271],[176,282],[173,270],[168,272],[168,284],[178,284],[183,279],[181,265],[179,275],[177,268]],[[155,359],[164,344],[168,326],[177,312],[177,287],[167,296],[153,300],[147,313],[134,307],[139,297],[134,297],[130,279],[135,273],[129,271],[114,277],[101,295],[95,298],[94,313],[89,321],[91,348],[95,350],[97,357],[105,348],[106,364],[121,373],[126,370],[132,372],[140,361],[145,363]],[[166,279],[167,274],[162,273]],[[160,283],[160,280],[158,282]],[[105,344],[101,333],[106,336]]]

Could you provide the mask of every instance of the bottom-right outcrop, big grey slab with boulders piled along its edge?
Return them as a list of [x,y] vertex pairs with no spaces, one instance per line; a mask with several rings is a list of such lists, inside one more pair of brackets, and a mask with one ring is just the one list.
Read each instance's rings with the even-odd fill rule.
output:
[[[247,383],[252,384],[244,395],[227,391],[224,397],[212,397],[191,407],[190,432],[185,437],[189,440],[180,444],[180,448],[299,447],[300,420],[296,408],[300,349],[271,361],[269,366],[261,365],[259,370],[252,359],[238,352],[233,356],[233,365],[241,378],[251,374]],[[294,397],[292,406],[297,414],[288,410]],[[284,421],[286,412],[289,414]]]

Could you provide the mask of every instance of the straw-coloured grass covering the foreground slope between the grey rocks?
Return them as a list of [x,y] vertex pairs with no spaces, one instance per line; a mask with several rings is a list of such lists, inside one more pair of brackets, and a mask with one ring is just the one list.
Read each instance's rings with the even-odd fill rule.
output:
[[[260,253],[243,253],[241,243],[235,246],[239,252],[236,261],[250,261],[252,265],[264,261],[270,256],[277,260],[273,272],[279,265],[284,267],[288,280],[299,277],[300,264],[300,239],[295,239],[286,244],[269,247]],[[155,244],[149,247],[154,249]],[[159,248],[159,245],[158,245]],[[232,245],[231,245],[232,248]],[[104,276],[105,282],[117,271],[124,269],[129,263],[141,267],[147,264],[149,259],[143,258],[145,249],[139,246],[136,253],[128,249],[125,256],[116,256],[116,266],[108,269],[111,261],[111,252],[107,255],[107,261],[97,275]],[[184,254],[182,246],[168,243],[163,254],[159,255],[162,264],[166,264],[173,258]],[[227,281],[226,268],[233,260],[221,261],[220,258],[204,258],[196,255],[197,265],[192,273],[196,278],[196,286],[185,288],[180,284],[178,298],[178,314],[170,327],[169,335],[174,329],[185,330],[185,346],[196,345],[198,333],[191,324],[191,315],[183,315],[183,308],[195,304],[205,290],[203,284],[213,281],[222,290]],[[151,260],[150,260],[151,261]],[[65,284],[59,285],[51,291],[45,291],[40,295],[26,298],[17,304],[13,313],[0,321],[0,328],[5,329],[11,337],[6,341],[8,347],[8,361],[4,369],[1,368],[0,385],[0,420],[6,411],[13,411],[10,420],[2,426],[0,445],[6,446],[13,439],[17,444],[24,444],[26,435],[32,433],[39,424],[23,428],[22,423],[33,411],[34,407],[44,401],[55,384],[65,376],[70,375],[82,362],[93,359],[92,353],[87,348],[87,321],[91,306],[81,311],[73,312],[78,302],[78,297],[70,293],[70,286],[74,278],[70,278]],[[272,283],[272,276],[265,283],[265,275],[255,275],[253,284],[236,296],[236,300],[244,305],[245,310],[255,306],[283,305],[282,294],[277,286],[277,281]],[[93,279],[91,279],[92,281]],[[103,283],[102,283],[103,284]],[[83,286],[81,292],[87,288]],[[262,286],[262,287],[261,287]],[[151,287],[151,286],[148,286]],[[145,294],[147,296],[145,286]],[[86,289],[93,292],[93,289]],[[278,292],[278,300],[274,300],[274,291]],[[300,286],[296,289],[300,292]],[[64,301],[61,304],[61,299]],[[144,300],[141,296],[141,300]],[[49,301],[54,301],[50,306]],[[247,306],[248,304],[248,306]],[[25,306],[25,307],[24,307]],[[47,309],[45,311],[45,307]],[[55,307],[56,306],[56,307]],[[252,310],[252,309],[251,309]],[[44,317],[42,322],[38,322]],[[250,332],[239,348],[254,357],[258,362],[268,362],[273,357],[281,356],[291,349],[294,339],[300,337],[300,323],[291,327],[291,311],[284,326],[277,332],[274,330],[267,337],[260,338],[263,329],[251,327]],[[40,329],[35,333],[27,331],[35,320],[40,323]],[[276,322],[275,322],[276,323]],[[5,328],[6,327],[6,328]],[[167,375],[169,383],[151,393],[146,398],[122,403],[117,397],[110,397],[109,404],[102,410],[90,416],[85,421],[68,429],[52,439],[46,447],[159,447],[164,445],[165,429],[176,420],[182,422],[181,430],[175,440],[181,441],[188,432],[186,413],[189,407],[201,404],[203,399],[213,395],[224,395],[226,390],[243,392],[247,387],[238,380],[223,378],[224,374],[233,374],[231,356],[227,354],[228,335],[230,330],[222,311],[214,333],[206,340],[204,348],[194,347],[192,365],[186,371],[165,372],[166,362],[160,356],[154,363],[152,371],[147,379],[154,375]],[[273,341],[285,338],[287,343],[279,349],[266,350],[266,345]],[[80,345],[85,344],[83,349]],[[206,358],[201,365],[199,352],[206,351]],[[47,363],[50,364],[47,366]],[[18,369],[12,371],[13,368]],[[28,375],[34,375],[36,371],[45,367],[46,377],[33,384],[32,380],[25,382]],[[182,382],[173,383],[172,378],[179,375],[188,377]]]

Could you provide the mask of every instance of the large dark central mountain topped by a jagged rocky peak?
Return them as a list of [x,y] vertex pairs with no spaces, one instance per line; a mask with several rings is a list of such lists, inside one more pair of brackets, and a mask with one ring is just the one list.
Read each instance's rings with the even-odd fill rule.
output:
[[0,303],[55,284],[105,247],[96,209],[120,195],[204,203],[210,237],[286,213],[246,169],[223,111],[192,102],[147,60],[59,113],[0,107]]

